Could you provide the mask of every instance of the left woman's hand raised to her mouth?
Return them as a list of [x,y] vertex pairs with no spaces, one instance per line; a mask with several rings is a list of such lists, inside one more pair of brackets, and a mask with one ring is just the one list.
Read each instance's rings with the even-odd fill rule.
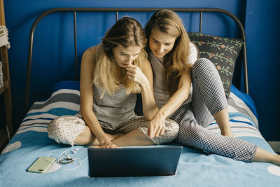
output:
[[144,85],[148,83],[148,79],[141,69],[133,64],[128,64],[125,68],[127,70],[127,76],[130,80],[138,83],[139,85]]

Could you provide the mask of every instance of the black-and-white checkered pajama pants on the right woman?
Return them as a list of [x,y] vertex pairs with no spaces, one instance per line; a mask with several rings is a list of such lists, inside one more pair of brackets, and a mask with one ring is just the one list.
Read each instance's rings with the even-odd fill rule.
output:
[[193,102],[181,106],[170,119],[179,125],[180,144],[235,160],[253,162],[257,146],[237,138],[215,134],[205,127],[218,111],[228,107],[223,84],[214,64],[197,60],[192,71]]

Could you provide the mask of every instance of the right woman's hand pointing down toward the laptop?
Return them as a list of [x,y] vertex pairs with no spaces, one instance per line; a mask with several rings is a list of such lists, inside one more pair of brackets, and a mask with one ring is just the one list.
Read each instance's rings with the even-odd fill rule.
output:
[[165,115],[159,111],[152,118],[150,125],[148,126],[148,136],[153,139],[165,133]]

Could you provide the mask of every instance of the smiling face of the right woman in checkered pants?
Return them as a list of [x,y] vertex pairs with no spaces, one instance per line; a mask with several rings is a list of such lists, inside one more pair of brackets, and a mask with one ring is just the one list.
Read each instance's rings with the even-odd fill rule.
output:
[[175,41],[175,36],[160,32],[158,29],[152,29],[149,47],[155,57],[165,57],[172,50]]

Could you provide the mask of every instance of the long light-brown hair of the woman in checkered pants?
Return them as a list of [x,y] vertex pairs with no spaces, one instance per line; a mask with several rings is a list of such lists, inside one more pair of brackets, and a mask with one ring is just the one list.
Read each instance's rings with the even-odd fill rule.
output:
[[[146,39],[149,40],[153,29],[158,29],[160,32],[170,34],[176,37],[174,47],[165,55],[165,83],[167,90],[171,94],[178,90],[179,80],[185,69],[189,68],[188,55],[190,38],[186,32],[181,18],[168,9],[162,9],[154,13],[151,19],[147,22],[145,27]],[[149,52],[150,48],[146,46],[146,50]]]

